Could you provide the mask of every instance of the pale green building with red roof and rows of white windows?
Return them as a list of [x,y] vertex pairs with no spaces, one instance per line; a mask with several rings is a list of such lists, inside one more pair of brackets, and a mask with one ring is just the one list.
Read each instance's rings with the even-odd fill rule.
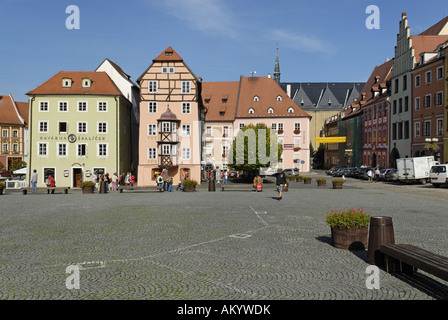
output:
[[80,187],[93,173],[130,170],[131,103],[105,72],[61,71],[27,93],[30,136],[27,180]]

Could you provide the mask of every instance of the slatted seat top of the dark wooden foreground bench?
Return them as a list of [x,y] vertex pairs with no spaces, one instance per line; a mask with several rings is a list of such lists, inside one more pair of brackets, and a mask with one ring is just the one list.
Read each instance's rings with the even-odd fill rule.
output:
[[[407,265],[448,280],[448,258],[409,244],[382,245],[380,251]],[[389,266],[388,266],[389,267]]]

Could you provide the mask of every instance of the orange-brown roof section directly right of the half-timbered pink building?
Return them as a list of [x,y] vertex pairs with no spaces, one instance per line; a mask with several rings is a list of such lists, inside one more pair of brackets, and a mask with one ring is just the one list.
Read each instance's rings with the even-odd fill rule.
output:
[[239,81],[203,82],[202,104],[205,121],[234,121]]

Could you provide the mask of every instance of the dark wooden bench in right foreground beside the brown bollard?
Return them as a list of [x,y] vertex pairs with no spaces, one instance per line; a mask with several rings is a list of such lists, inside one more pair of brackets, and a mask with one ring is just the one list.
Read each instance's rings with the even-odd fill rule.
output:
[[380,252],[387,272],[412,273],[421,269],[448,281],[448,257],[410,244],[383,244]]

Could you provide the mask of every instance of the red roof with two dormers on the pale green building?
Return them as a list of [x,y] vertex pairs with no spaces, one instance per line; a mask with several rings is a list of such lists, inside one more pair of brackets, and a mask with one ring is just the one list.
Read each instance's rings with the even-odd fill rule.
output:
[[[88,78],[92,80],[89,88],[82,87],[82,80]],[[62,86],[62,79],[71,79],[72,85],[68,88]],[[45,81],[36,89],[31,90],[27,95],[51,94],[51,95],[121,95],[112,79],[106,72],[97,71],[60,71],[53,77]]]

